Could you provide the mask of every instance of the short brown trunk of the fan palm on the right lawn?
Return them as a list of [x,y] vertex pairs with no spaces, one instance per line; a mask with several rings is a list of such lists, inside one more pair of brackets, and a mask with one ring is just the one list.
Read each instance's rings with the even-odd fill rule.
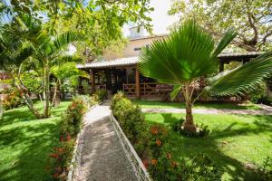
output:
[[196,131],[196,125],[194,124],[194,119],[192,116],[192,103],[191,103],[191,97],[192,97],[192,91],[189,88],[189,83],[185,85],[185,89],[183,90],[184,98],[186,101],[186,119],[183,123],[183,129],[188,131]]

